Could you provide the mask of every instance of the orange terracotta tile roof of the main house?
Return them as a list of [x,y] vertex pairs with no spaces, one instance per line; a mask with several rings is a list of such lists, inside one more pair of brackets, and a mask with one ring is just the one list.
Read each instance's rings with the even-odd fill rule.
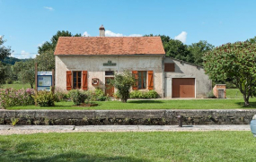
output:
[[164,55],[160,37],[60,37],[54,55]]

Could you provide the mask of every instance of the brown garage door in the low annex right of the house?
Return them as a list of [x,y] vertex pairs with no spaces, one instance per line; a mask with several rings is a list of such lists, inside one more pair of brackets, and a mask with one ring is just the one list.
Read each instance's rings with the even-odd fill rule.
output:
[[172,98],[195,98],[195,79],[173,78]]

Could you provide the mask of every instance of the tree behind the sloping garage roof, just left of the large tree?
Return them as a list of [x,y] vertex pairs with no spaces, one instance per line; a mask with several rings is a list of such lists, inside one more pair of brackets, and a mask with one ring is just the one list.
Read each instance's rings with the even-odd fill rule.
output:
[[198,43],[192,43],[189,46],[190,55],[192,56],[193,64],[203,64],[203,56],[208,51],[214,48],[213,45],[207,43],[206,40],[200,40]]

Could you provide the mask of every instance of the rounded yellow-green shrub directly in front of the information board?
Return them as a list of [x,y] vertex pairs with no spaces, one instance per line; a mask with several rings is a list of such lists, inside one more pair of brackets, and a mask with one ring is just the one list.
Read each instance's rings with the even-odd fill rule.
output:
[[40,107],[53,107],[54,102],[57,101],[57,97],[51,91],[40,90],[38,93],[33,96],[35,102]]

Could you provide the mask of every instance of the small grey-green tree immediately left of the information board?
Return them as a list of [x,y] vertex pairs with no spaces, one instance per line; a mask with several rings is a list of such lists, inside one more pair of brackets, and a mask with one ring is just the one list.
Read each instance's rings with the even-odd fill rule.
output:
[[17,62],[13,65],[13,72],[18,75],[19,81],[29,83],[31,89],[35,82],[35,61],[30,59],[26,62]]

